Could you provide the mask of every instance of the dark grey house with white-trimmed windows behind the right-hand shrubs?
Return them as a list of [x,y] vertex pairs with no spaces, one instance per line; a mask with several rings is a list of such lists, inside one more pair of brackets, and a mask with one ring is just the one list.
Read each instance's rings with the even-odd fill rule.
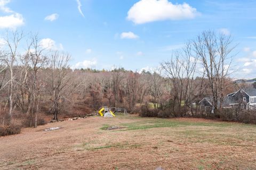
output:
[[[213,112],[213,98],[205,97],[199,102],[200,108],[204,108],[205,111]],[[240,106],[242,109],[256,109],[256,82],[253,83],[253,88],[239,89],[231,94],[228,94],[223,98],[222,108],[231,108]],[[220,103],[218,103],[220,107]]]

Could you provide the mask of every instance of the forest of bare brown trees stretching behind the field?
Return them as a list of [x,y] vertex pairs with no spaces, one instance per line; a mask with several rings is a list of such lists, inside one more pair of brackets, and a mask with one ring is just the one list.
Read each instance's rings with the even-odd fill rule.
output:
[[[170,60],[150,71],[71,69],[67,52],[44,48],[39,35],[6,31],[0,48],[2,135],[49,120],[86,116],[101,106],[123,107],[142,116],[201,116],[197,108],[213,97],[220,117],[227,94],[246,86],[231,79],[236,53],[231,36],[204,31]],[[220,103],[220,107],[218,107]]]

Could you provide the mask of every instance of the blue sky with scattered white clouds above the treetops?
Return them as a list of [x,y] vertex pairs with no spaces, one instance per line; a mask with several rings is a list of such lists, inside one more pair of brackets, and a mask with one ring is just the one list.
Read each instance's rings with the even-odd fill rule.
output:
[[[150,69],[203,30],[238,44],[234,78],[256,77],[256,1],[0,0],[0,33],[36,32],[73,68]],[[1,44],[1,37],[0,37]]]

